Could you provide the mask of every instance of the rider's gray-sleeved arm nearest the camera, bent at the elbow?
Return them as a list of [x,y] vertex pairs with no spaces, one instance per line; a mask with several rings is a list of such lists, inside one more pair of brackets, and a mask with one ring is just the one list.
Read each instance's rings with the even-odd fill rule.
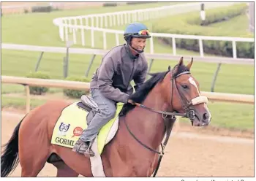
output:
[[114,88],[112,77],[115,72],[113,59],[108,57],[102,61],[99,69],[98,87],[99,91],[108,99],[113,101],[127,103],[128,94],[121,92],[118,88]]

